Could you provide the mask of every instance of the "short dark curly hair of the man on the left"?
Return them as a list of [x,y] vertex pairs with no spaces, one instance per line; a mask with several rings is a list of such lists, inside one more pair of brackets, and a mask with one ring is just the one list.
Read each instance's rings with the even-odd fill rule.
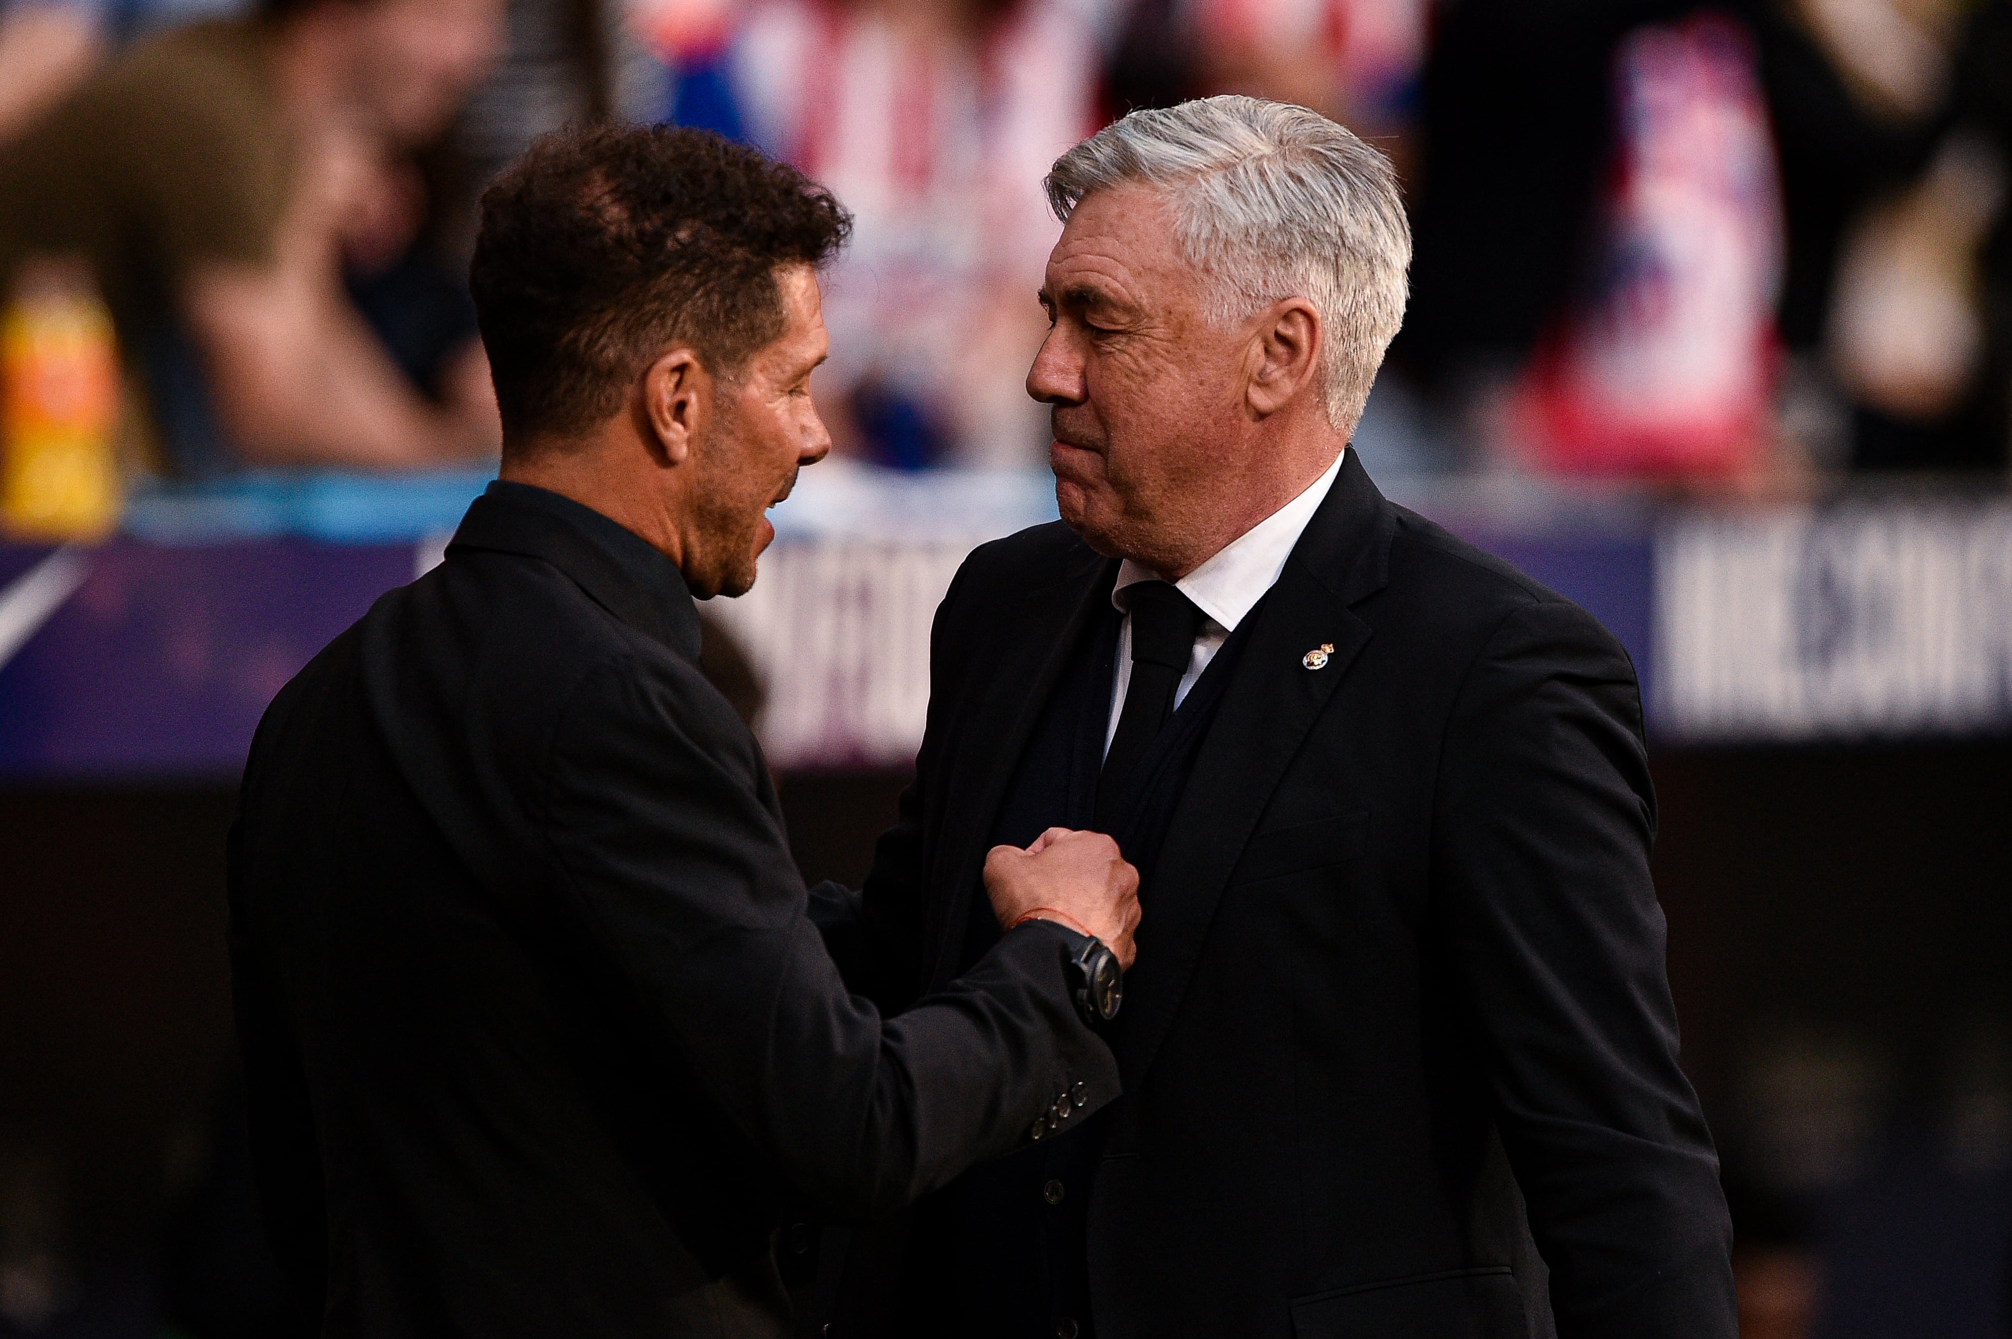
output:
[[559,131],[483,193],[469,290],[505,450],[606,420],[674,344],[714,376],[783,336],[779,265],[823,265],[851,215],[710,131]]

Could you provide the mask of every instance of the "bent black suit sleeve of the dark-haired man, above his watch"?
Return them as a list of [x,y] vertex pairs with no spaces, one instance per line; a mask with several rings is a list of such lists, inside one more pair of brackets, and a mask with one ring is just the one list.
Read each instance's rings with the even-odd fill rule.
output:
[[[1028,925],[901,1017],[847,991],[744,728],[696,674],[618,659],[567,704],[543,830],[561,917],[622,1007],[801,1190],[879,1214],[1117,1096],[1066,935]],[[1034,933],[1028,933],[1034,931]]]

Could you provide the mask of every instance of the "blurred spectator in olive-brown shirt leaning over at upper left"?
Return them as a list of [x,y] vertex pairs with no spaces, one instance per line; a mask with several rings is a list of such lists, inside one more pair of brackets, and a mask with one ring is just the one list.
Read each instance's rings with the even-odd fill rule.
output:
[[169,468],[495,448],[479,346],[443,360],[427,398],[342,279],[400,189],[390,165],[487,66],[497,8],[270,0],[135,44],[0,149],[0,273],[36,253],[91,261]]

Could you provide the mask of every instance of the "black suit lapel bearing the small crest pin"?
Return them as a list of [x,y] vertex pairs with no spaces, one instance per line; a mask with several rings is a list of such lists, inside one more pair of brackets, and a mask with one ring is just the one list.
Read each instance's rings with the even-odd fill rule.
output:
[[[1370,627],[1350,605],[1384,585],[1392,531],[1390,507],[1350,450],[1278,585],[1251,615],[1258,625],[1145,891],[1139,961],[1125,977],[1125,1007],[1113,1025],[1127,1092],[1137,1092],[1173,1025],[1229,871],[1260,814],[1368,645]],[[1308,667],[1316,647],[1326,661]]]

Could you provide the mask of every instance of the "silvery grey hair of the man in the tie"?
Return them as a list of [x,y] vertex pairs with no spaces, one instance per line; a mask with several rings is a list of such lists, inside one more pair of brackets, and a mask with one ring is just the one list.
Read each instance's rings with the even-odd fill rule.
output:
[[1042,189],[1066,223],[1121,185],[1167,191],[1175,241],[1209,279],[1209,320],[1280,298],[1314,306],[1328,422],[1354,432],[1404,320],[1410,223],[1390,159],[1320,113],[1225,94],[1131,113],[1058,157]]

